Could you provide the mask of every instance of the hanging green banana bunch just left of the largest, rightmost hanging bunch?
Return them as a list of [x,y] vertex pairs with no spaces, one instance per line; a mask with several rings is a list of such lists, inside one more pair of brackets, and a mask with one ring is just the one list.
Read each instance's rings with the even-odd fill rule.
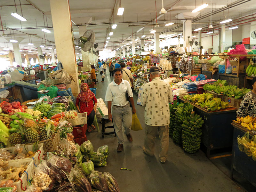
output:
[[182,144],[182,127],[181,124],[183,121],[187,120],[190,117],[191,112],[193,111],[193,105],[189,103],[184,103],[183,107],[177,107],[175,111],[175,122],[176,126],[174,127],[172,133],[172,139],[177,144]]

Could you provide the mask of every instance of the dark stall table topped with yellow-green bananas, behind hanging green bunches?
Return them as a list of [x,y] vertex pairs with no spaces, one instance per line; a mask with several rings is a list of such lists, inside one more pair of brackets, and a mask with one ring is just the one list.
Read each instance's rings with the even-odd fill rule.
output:
[[221,109],[220,111],[207,111],[188,100],[179,98],[182,102],[188,102],[194,106],[193,111],[203,118],[202,144],[206,147],[206,156],[212,158],[211,151],[215,149],[231,148],[233,143],[232,119],[236,119],[237,108]]

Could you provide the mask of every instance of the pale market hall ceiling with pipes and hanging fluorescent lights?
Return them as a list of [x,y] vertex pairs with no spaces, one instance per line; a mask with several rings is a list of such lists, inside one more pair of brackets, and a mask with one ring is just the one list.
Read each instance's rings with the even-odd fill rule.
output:
[[[245,1],[245,3],[241,5],[231,7],[224,12],[213,14],[213,27],[219,28],[217,25],[219,24],[220,20],[224,20],[225,18],[232,18],[234,20],[246,15],[252,15],[255,13],[255,10],[253,11],[253,9],[256,9],[256,4],[254,4],[253,1],[255,0],[247,0],[247,2]],[[212,1],[212,10],[214,12],[215,10],[227,6],[227,4],[233,4],[235,2],[242,2],[242,0],[214,0]],[[204,0],[203,3],[208,3],[209,6],[198,12],[195,17],[193,16],[193,18],[190,19],[196,19],[210,12],[211,0]],[[17,37],[23,38],[23,40],[20,42],[20,48],[24,50],[24,53],[28,52],[29,50],[36,53],[36,46],[28,46],[28,43],[33,43],[34,45],[46,44],[47,46],[54,47],[54,31],[52,28],[50,1],[20,0],[16,1],[16,5],[17,6],[15,7],[14,1],[2,0],[0,2],[0,14],[4,34],[7,35],[7,37],[0,36],[0,49],[4,47],[12,49],[12,44],[8,40],[10,38]],[[171,34],[172,32],[177,34],[182,33],[182,27],[177,28],[177,26],[182,24],[182,21],[177,19],[177,15],[180,13],[184,13],[183,15],[186,15],[185,13],[187,12],[191,13],[191,11],[195,9],[195,6],[201,5],[201,1],[164,0],[164,8],[169,10],[165,15],[159,14],[159,11],[162,8],[161,0],[156,0],[156,8],[155,0],[121,0],[121,5],[124,7],[123,16],[117,16],[117,9],[119,7],[118,0],[69,0],[69,5],[71,20],[73,21],[72,25],[74,28],[74,36],[76,38],[79,37],[79,25],[86,25],[86,29],[92,29],[95,33],[95,43],[99,43],[97,49],[102,50],[110,31],[112,31],[114,34],[113,36],[110,36],[111,38],[108,40],[109,43],[106,49],[116,49],[121,45],[126,45],[126,43],[130,42],[131,40],[134,41],[135,36],[142,36],[142,33],[146,35],[146,39],[152,38],[153,35],[150,34],[149,30],[156,24],[156,8],[158,24],[160,25],[158,29],[163,33],[160,37],[163,38],[167,35],[167,33],[164,33],[165,31],[169,31],[168,34]],[[250,9],[248,9],[248,7]],[[27,21],[20,21],[11,16],[12,12],[16,12],[16,8],[17,13],[20,15],[22,8],[23,17],[26,18]],[[116,29],[111,29],[113,23],[112,13],[114,14],[114,20],[117,24]],[[174,25],[164,27],[164,24],[169,22],[173,22]],[[208,16],[194,22],[192,29],[208,26],[209,23],[210,17]],[[52,31],[52,33],[44,33],[41,30],[44,27],[47,28],[47,24],[49,26],[48,29]],[[144,27],[143,30],[141,30],[142,27]],[[140,30],[140,32],[135,33],[138,30]],[[203,28],[203,30],[207,31],[208,28]],[[1,34],[2,31],[0,31],[0,35]],[[137,45],[139,45],[139,41],[136,46]],[[43,51],[50,53],[47,46],[46,48],[43,48]],[[78,48],[76,49],[76,52],[80,52]]]

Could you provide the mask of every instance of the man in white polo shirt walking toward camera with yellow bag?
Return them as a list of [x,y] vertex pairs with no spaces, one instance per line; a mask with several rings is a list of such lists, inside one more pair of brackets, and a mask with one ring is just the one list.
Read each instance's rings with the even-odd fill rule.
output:
[[[124,134],[126,134],[127,139],[132,142],[132,136],[130,134],[132,126],[132,113],[136,113],[136,109],[134,106],[131,86],[128,81],[122,79],[123,70],[116,68],[113,72],[114,81],[108,84],[105,101],[108,101],[108,119],[113,121],[118,139],[117,152],[121,152],[124,149],[123,127]],[[127,100],[126,92],[130,102]],[[132,109],[130,104],[132,105]]]

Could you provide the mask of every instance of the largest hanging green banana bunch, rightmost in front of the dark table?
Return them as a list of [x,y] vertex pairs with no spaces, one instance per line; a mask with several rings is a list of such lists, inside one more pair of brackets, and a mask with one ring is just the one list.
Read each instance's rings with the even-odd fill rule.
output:
[[196,153],[200,148],[203,118],[192,112],[189,118],[183,121],[182,127],[182,148],[187,153]]

